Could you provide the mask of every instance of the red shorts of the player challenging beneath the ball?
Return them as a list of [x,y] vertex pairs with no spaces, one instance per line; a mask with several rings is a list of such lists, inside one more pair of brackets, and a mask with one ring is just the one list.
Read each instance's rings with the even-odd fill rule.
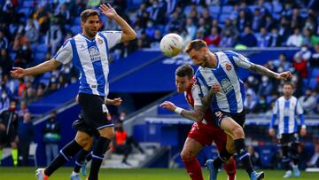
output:
[[219,152],[227,143],[227,135],[222,129],[214,128],[212,125],[206,125],[202,122],[195,122],[191,126],[187,137],[194,139],[203,146],[212,145],[214,141]]

